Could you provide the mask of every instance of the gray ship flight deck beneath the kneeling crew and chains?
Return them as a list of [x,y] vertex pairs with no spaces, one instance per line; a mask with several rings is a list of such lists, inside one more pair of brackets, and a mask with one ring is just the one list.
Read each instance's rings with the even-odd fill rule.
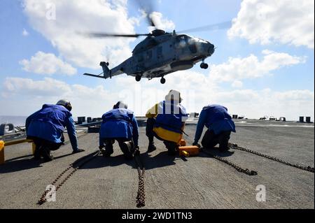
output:
[[[227,164],[200,153],[198,157],[169,157],[161,141],[158,150],[146,153],[144,120],[140,121],[139,146],[146,167],[144,208],[314,208],[314,173],[240,150],[220,154],[258,175],[239,173]],[[193,143],[197,120],[189,122],[184,136]],[[292,163],[314,167],[314,124],[235,120],[231,143]],[[125,161],[114,145],[110,158],[97,156],[78,169],[57,191],[55,202],[36,203],[57,175],[73,161],[98,150],[98,134],[79,132],[79,147],[71,154],[68,143],[52,152],[54,161],[34,161],[31,144],[5,148],[0,166],[0,208],[137,208],[138,172],[134,161]],[[66,136],[66,134],[65,134]],[[256,187],[264,185],[266,201],[256,201]]]

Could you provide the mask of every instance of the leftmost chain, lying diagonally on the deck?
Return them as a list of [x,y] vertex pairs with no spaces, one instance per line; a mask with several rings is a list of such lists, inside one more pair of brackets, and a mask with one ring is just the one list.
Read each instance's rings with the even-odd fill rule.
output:
[[[67,167],[64,171],[62,171],[62,173],[60,173],[57,178],[51,183],[51,185],[56,186],[57,181],[62,178],[62,175],[64,175],[67,171],[71,170],[71,168],[73,168],[73,171],[71,171],[71,173],[69,173],[68,175],[66,175],[66,178],[64,178],[64,180],[62,180],[62,182],[59,183],[59,185],[56,186],[56,192],[58,189],[60,189],[60,187],[62,187],[62,185],[64,185],[64,183],[66,182],[66,180],[69,180],[69,178],[71,177],[71,175],[73,175],[73,173],[76,173],[76,171],[78,171],[79,168],[81,168],[82,166],[84,166],[85,164],[87,164],[87,162],[91,161],[92,159],[94,159],[95,157],[97,157],[99,154],[101,154],[101,152],[96,151],[96,152],[92,152],[91,154],[88,154],[85,157],[82,157],[80,159],[78,159],[77,161],[73,162],[72,164],[69,165],[69,167]],[[91,157],[90,157],[91,156]],[[87,159],[89,158],[89,159]],[[86,160],[85,160],[86,159]],[[80,161],[83,161],[82,164],[76,166],[76,168],[74,168],[73,166],[75,166],[75,164],[77,164]],[[37,204],[38,205],[42,205],[43,203],[45,203],[47,201],[46,196],[48,194],[48,192],[50,192],[49,190],[46,190],[43,195],[41,196],[41,199],[38,200]]]

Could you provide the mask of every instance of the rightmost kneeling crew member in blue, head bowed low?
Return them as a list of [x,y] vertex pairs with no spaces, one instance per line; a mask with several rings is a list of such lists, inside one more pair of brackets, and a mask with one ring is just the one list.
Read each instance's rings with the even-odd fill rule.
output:
[[193,145],[200,145],[198,141],[202,135],[204,125],[208,128],[202,138],[202,147],[212,149],[219,144],[219,150],[229,150],[228,143],[231,131],[235,131],[235,124],[228,114],[228,108],[220,105],[209,105],[202,109],[197,124]]

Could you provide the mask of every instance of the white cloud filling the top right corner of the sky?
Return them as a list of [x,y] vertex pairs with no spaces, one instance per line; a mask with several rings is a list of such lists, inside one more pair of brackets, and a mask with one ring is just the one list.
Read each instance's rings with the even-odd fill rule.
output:
[[243,0],[228,36],[314,49],[314,0]]

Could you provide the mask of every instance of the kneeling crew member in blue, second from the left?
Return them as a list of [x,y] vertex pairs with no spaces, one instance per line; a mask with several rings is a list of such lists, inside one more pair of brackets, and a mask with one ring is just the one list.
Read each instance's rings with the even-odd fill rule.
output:
[[[113,154],[113,143],[118,141],[120,150],[126,159],[132,159],[132,154],[138,147],[138,123],[132,110],[127,109],[127,104],[118,101],[113,110],[102,116],[101,129],[99,130],[99,150],[104,157]],[[104,145],[105,143],[105,145]]]

